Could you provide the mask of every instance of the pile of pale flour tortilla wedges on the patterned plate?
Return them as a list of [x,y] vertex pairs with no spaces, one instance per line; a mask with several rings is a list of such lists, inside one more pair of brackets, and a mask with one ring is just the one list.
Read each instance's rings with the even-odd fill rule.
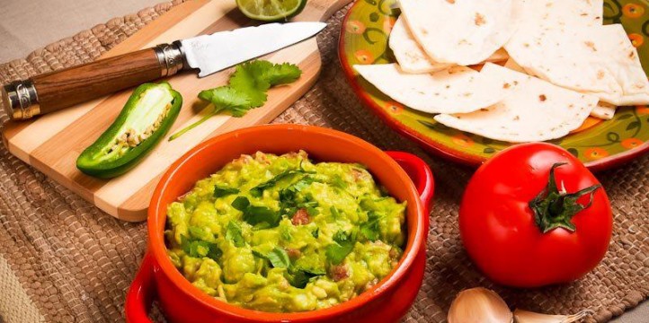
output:
[[649,104],[636,48],[620,24],[602,25],[602,2],[400,0],[389,38],[398,64],[354,68],[447,127],[511,143],[560,138],[589,115]]

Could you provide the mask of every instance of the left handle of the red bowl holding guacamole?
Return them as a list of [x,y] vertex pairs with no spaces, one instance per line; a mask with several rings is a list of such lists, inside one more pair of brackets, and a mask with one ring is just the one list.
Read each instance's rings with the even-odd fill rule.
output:
[[129,323],[151,322],[148,318],[148,310],[151,308],[156,296],[156,284],[154,282],[154,260],[148,252],[142,259],[138,275],[130,284],[129,293],[126,295],[124,312],[126,321]]

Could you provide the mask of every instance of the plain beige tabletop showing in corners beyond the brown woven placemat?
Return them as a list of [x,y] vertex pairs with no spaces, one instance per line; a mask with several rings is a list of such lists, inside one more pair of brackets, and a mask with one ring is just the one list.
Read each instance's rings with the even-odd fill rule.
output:
[[[32,50],[71,37],[78,31],[92,28],[111,18],[160,3],[162,0],[22,0],[2,1],[0,11],[0,62],[25,57]],[[218,0],[229,1],[229,0]],[[234,0],[233,0],[234,1]],[[17,27],[18,26],[18,27]],[[0,258],[0,263],[2,263]],[[2,267],[0,267],[2,271]],[[0,282],[0,290],[3,288]],[[9,283],[7,283],[9,284]],[[0,318],[3,301],[0,297]],[[640,304],[612,323],[644,323],[649,321],[649,301]],[[2,321],[2,319],[0,319]],[[7,322],[11,323],[11,322]]]

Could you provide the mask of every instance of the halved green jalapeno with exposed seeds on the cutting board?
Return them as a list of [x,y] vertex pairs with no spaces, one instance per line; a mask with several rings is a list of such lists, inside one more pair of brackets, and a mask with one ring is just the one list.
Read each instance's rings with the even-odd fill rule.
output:
[[79,155],[76,168],[102,179],[120,176],[164,137],[181,107],[181,93],[169,83],[138,86],[111,127]]

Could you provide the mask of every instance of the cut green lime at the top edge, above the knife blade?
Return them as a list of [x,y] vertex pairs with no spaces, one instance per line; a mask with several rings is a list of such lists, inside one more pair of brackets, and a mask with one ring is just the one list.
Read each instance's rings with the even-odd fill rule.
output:
[[302,12],[307,0],[236,0],[236,5],[248,18],[278,22]]

